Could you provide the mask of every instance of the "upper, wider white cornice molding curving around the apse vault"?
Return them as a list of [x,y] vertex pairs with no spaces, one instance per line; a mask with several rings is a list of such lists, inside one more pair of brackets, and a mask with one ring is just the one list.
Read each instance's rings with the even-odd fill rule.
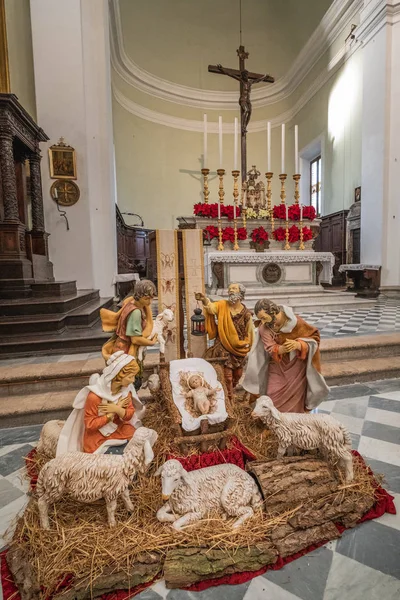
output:
[[[173,83],[141,69],[125,52],[119,0],[109,0],[111,62],[118,75],[135,89],[181,106],[208,110],[237,110],[238,92],[200,90]],[[289,71],[281,79],[252,91],[254,108],[290,96],[314,65],[361,10],[363,0],[334,0]]]

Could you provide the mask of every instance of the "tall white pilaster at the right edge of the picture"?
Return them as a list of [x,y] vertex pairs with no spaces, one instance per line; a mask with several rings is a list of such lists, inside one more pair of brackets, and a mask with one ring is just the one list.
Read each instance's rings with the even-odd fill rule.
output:
[[357,29],[363,53],[361,262],[382,265],[387,291],[400,291],[400,21],[394,6],[393,0],[365,0]]

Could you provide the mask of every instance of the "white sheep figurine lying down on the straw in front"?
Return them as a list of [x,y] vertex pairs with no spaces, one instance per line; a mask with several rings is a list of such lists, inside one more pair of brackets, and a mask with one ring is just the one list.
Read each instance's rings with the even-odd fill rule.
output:
[[199,521],[214,510],[239,517],[237,529],[261,507],[262,498],[253,478],[232,464],[186,471],[177,460],[167,460],[157,471],[161,475],[163,500],[157,512],[161,523],[173,523],[177,531]]

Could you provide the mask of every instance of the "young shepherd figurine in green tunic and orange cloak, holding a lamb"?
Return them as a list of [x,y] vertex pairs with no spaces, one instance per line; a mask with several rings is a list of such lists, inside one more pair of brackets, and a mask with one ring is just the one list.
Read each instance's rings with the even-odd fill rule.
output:
[[[113,332],[113,336],[102,348],[102,355],[107,362],[114,352],[123,351],[136,358],[138,364],[137,382],[140,382],[143,364],[138,360],[140,346],[154,346],[157,335],[150,338],[153,329],[151,302],[156,295],[156,286],[152,281],[143,279],[136,283],[133,296],[123,302],[118,312],[100,310],[103,331]],[[143,355],[144,359],[144,355]]]

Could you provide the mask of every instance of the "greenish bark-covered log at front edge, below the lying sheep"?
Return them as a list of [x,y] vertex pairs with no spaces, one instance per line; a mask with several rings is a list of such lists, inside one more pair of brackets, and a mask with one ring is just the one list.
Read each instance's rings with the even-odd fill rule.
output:
[[220,550],[176,548],[167,552],[164,577],[167,588],[181,588],[231,573],[257,571],[276,562],[277,551],[266,541],[246,548]]

